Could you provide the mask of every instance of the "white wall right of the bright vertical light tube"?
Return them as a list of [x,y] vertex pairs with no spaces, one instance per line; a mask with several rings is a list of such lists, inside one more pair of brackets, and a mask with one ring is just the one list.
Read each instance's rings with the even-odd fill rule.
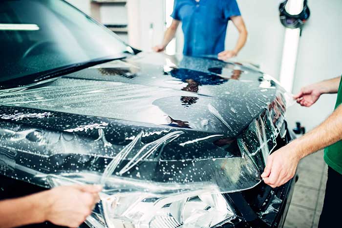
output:
[[[308,1],[311,17],[299,41],[293,92],[342,74],[342,1]],[[307,129],[320,124],[335,106],[336,95],[323,95],[310,108],[295,105],[288,111],[290,126],[300,121]]]

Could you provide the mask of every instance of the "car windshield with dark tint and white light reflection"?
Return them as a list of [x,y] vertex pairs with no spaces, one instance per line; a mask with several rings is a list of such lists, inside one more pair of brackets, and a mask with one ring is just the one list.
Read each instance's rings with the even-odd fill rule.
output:
[[131,48],[64,0],[0,0],[0,85]]

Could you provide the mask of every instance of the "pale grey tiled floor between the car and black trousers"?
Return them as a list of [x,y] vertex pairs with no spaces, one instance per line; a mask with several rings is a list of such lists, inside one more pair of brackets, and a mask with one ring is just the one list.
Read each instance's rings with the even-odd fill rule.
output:
[[323,151],[300,161],[297,171],[299,180],[295,185],[285,228],[317,228],[323,207],[327,170]]

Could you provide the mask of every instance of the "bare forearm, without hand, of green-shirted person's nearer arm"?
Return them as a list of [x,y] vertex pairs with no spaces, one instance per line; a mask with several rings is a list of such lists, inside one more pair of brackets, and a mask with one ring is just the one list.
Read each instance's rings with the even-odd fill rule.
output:
[[299,158],[342,140],[342,106],[340,105],[322,124],[291,142]]

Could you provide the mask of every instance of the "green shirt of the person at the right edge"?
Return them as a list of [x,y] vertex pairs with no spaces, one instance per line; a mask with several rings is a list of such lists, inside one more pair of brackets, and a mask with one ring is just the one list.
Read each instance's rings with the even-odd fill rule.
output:
[[[342,80],[340,82],[339,92],[335,109],[342,103]],[[328,166],[342,174],[342,141],[329,145],[324,149],[324,161]]]

